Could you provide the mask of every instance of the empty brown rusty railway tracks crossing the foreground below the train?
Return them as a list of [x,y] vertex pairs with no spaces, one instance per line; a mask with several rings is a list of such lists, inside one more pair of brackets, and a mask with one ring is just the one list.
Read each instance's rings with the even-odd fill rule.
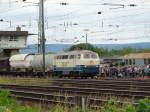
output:
[[51,81],[49,86],[0,84],[0,88],[10,90],[15,97],[21,100],[65,105],[83,105],[83,102],[88,102],[93,107],[102,105],[110,97],[115,97],[116,102],[120,104],[127,101],[137,104],[139,99],[150,98],[148,80],[53,79],[49,81]]

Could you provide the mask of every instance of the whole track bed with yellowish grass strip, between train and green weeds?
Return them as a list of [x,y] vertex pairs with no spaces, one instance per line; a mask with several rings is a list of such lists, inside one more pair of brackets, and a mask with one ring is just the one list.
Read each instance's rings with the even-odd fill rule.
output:
[[[102,111],[103,108],[108,105],[111,107],[112,104],[112,108],[118,109],[114,112],[121,112],[120,109],[123,107],[136,109],[140,105],[139,100],[141,99],[148,103],[146,105],[150,105],[150,79],[108,78],[96,80],[0,77],[0,88],[9,90],[19,101],[29,101],[48,106],[56,105],[62,109],[60,112],[63,112],[66,107],[74,109],[76,106],[82,111],[85,111],[87,107]],[[119,108],[117,108],[118,106]],[[64,112],[70,112],[69,109],[64,110]]]

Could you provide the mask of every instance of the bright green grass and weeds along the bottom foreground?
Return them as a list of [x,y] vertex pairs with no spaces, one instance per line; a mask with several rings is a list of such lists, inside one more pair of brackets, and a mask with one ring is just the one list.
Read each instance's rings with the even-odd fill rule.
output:
[[51,105],[42,108],[41,105],[22,104],[11,96],[7,90],[0,91],[0,112],[150,112],[150,99],[145,98],[139,101],[138,105],[131,102],[120,106],[115,98],[111,98],[107,103],[95,110],[86,106],[81,109],[79,106],[67,107],[62,105]]

